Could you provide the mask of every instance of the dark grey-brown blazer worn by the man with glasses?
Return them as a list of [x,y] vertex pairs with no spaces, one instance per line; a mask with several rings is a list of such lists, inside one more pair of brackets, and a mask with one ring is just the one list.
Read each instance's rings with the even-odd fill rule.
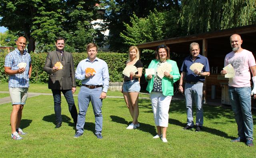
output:
[[[56,62],[61,62],[63,69],[53,73],[52,68]],[[76,87],[74,60],[71,53],[64,51],[63,56],[58,51],[47,53],[44,71],[49,74],[49,89],[71,90],[72,87]]]

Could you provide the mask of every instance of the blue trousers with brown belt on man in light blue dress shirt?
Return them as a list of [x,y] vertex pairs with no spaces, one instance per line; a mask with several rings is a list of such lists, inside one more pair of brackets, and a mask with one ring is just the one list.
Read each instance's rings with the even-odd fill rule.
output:
[[80,92],[78,94],[78,118],[76,129],[79,133],[84,133],[84,123],[85,116],[89,106],[90,101],[92,102],[92,109],[95,116],[95,134],[102,132],[102,99],[100,99],[100,95],[102,93],[102,87],[89,89],[85,86],[80,88]]

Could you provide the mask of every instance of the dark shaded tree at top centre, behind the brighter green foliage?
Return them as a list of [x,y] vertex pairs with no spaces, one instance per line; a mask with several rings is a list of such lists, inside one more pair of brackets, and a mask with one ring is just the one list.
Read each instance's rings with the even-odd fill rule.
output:
[[112,51],[126,52],[123,45],[124,39],[120,33],[126,29],[124,23],[130,25],[130,17],[135,14],[138,18],[145,18],[150,14],[150,10],[156,9],[165,12],[175,9],[179,12],[180,4],[178,0],[102,0],[102,5],[106,7],[105,22],[110,30],[110,49]]

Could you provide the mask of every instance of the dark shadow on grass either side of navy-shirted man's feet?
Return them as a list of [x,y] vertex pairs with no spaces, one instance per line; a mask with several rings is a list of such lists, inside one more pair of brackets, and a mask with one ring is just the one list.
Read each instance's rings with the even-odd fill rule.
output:
[[[180,130],[182,130],[182,128],[186,126],[186,123],[182,123],[182,122],[180,122],[179,120],[176,120],[176,119],[170,119],[169,118],[169,123],[172,124],[172,125],[180,126]],[[213,128],[210,128],[210,127],[205,127],[204,126],[202,128],[202,131],[210,133],[212,135],[217,135],[217,136],[220,136],[220,137],[228,138],[228,139],[234,139],[235,138],[235,137],[228,136],[228,134],[225,133],[225,132],[222,132],[218,129],[213,129]]]

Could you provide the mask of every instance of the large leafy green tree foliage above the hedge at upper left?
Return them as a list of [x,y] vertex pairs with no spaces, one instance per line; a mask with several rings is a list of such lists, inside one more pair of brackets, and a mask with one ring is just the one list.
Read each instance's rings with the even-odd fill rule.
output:
[[100,31],[93,29],[95,4],[99,0],[1,0],[0,25],[18,31],[28,39],[28,50],[50,51],[57,37],[66,39],[69,51],[82,52],[96,41]]

